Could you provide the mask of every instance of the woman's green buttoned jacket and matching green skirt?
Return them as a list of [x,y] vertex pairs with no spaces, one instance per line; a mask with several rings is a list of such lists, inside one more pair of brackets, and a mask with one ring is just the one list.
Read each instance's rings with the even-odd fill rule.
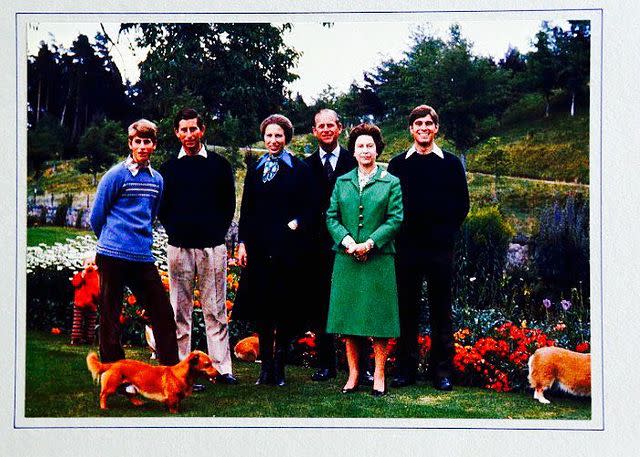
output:
[[[358,170],[338,178],[327,210],[327,227],[337,252],[331,280],[327,332],[397,337],[398,293],[394,265],[395,238],[402,222],[400,180],[385,170],[360,192]],[[346,235],[358,243],[371,238],[375,247],[364,262],[344,253]]]

